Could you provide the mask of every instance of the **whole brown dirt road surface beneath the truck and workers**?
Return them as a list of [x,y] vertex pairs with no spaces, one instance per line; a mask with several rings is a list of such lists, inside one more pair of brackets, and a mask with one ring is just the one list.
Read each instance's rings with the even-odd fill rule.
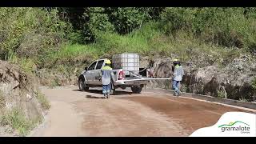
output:
[[101,90],[82,92],[77,86],[42,91],[51,108],[31,136],[189,136],[227,111],[246,111],[146,91],[119,91],[110,99]]

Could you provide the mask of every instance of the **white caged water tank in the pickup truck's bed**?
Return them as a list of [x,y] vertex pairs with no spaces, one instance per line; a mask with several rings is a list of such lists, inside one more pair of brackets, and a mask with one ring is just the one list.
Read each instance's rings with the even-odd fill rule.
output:
[[139,56],[136,53],[113,54],[112,66],[113,69],[122,69],[126,75],[130,74],[129,71],[138,74]]

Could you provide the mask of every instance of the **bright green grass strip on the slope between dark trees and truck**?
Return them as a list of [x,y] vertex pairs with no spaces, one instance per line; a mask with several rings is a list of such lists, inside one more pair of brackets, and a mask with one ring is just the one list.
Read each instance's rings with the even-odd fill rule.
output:
[[210,43],[201,42],[200,39],[183,31],[178,31],[175,35],[167,36],[158,29],[155,22],[147,23],[138,30],[134,30],[127,35],[102,34],[94,44],[78,45],[67,44],[57,53],[47,56],[46,63],[57,62],[58,64],[68,64],[76,62],[90,62],[95,58],[109,57],[111,54],[122,52],[136,52],[142,56],[160,54],[162,57],[170,57],[177,54],[182,61],[193,58],[190,54],[207,54],[215,58],[215,62],[222,62],[225,58],[235,58],[239,54],[246,53],[243,49],[224,48]]

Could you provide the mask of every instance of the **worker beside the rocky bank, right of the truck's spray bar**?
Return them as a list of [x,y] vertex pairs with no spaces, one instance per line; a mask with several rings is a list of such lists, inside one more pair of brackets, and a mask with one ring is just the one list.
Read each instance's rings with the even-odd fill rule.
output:
[[180,85],[180,82],[182,81],[184,70],[177,58],[174,59],[173,63],[174,63],[174,77],[172,80],[172,87],[174,90],[174,95],[178,96],[182,94],[181,91],[179,90],[179,85]]

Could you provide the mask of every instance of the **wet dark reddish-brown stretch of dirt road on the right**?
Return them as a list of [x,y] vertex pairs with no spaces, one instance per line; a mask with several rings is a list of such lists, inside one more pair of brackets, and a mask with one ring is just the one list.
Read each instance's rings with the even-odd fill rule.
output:
[[213,126],[222,114],[229,111],[242,111],[233,107],[222,106],[210,102],[200,102],[188,98],[176,97],[150,97],[136,96],[124,98],[133,102],[140,102],[145,106],[149,106],[152,110],[165,114],[169,118],[180,124],[185,130],[192,134],[195,130],[206,126]]

